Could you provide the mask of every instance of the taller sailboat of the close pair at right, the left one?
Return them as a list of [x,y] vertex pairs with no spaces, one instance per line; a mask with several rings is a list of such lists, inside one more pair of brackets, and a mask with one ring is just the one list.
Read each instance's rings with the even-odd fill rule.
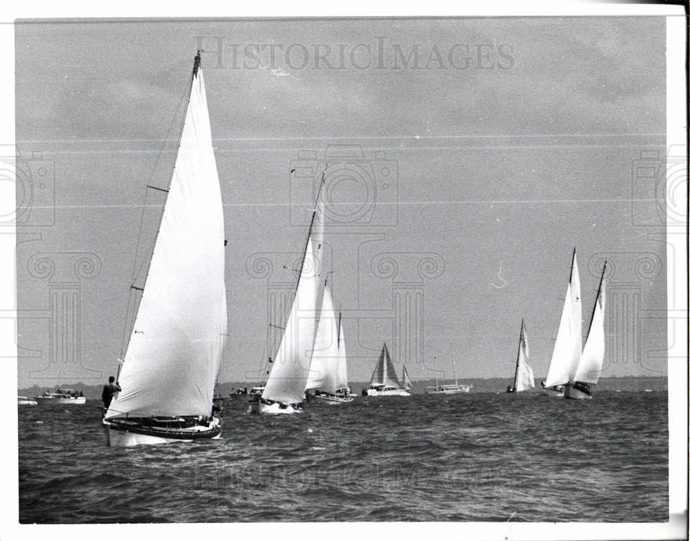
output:
[[578,259],[573,249],[573,262],[570,267],[563,312],[553,346],[549,373],[546,375],[546,382],[541,383],[542,393],[562,397],[565,391],[564,386],[570,382],[573,367],[578,364],[580,355],[582,355],[582,301]]

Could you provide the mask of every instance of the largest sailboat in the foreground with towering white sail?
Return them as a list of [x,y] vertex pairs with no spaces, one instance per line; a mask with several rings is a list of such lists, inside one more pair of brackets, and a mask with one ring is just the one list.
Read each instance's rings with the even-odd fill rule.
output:
[[[156,188],[161,189],[161,188]],[[197,52],[175,167],[124,362],[110,446],[220,437],[213,389],[227,334],[224,218]]]

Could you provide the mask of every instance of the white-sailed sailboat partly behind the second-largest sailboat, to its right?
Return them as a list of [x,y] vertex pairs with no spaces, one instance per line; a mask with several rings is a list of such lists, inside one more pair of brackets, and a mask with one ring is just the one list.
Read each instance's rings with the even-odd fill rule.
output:
[[315,398],[329,404],[352,402],[347,386],[347,365],[345,357],[345,342],[342,340],[342,314],[339,315],[337,326],[333,298],[328,287],[328,279],[324,284],[324,299],[321,304],[321,314],[316,331],[314,351],[311,357],[311,368],[306,383],[308,399]]

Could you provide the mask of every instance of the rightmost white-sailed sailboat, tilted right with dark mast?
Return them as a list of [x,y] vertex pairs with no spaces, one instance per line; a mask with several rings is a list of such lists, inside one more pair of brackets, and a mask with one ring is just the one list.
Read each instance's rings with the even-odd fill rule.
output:
[[606,262],[599,280],[597,297],[587,331],[587,340],[580,356],[580,362],[575,366],[569,384],[565,388],[566,398],[586,399],[592,397],[594,386],[599,381],[599,375],[604,364],[604,313],[606,311]]

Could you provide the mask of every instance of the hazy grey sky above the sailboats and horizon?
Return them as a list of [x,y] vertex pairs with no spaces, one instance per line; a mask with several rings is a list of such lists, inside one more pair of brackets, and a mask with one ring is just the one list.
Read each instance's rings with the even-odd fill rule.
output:
[[325,164],[351,381],[384,342],[413,380],[511,377],[523,317],[545,377],[574,247],[585,329],[611,271],[602,375],[667,373],[663,19],[31,21],[15,44],[20,387],[117,371],[199,47],[221,381],[262,377]]

